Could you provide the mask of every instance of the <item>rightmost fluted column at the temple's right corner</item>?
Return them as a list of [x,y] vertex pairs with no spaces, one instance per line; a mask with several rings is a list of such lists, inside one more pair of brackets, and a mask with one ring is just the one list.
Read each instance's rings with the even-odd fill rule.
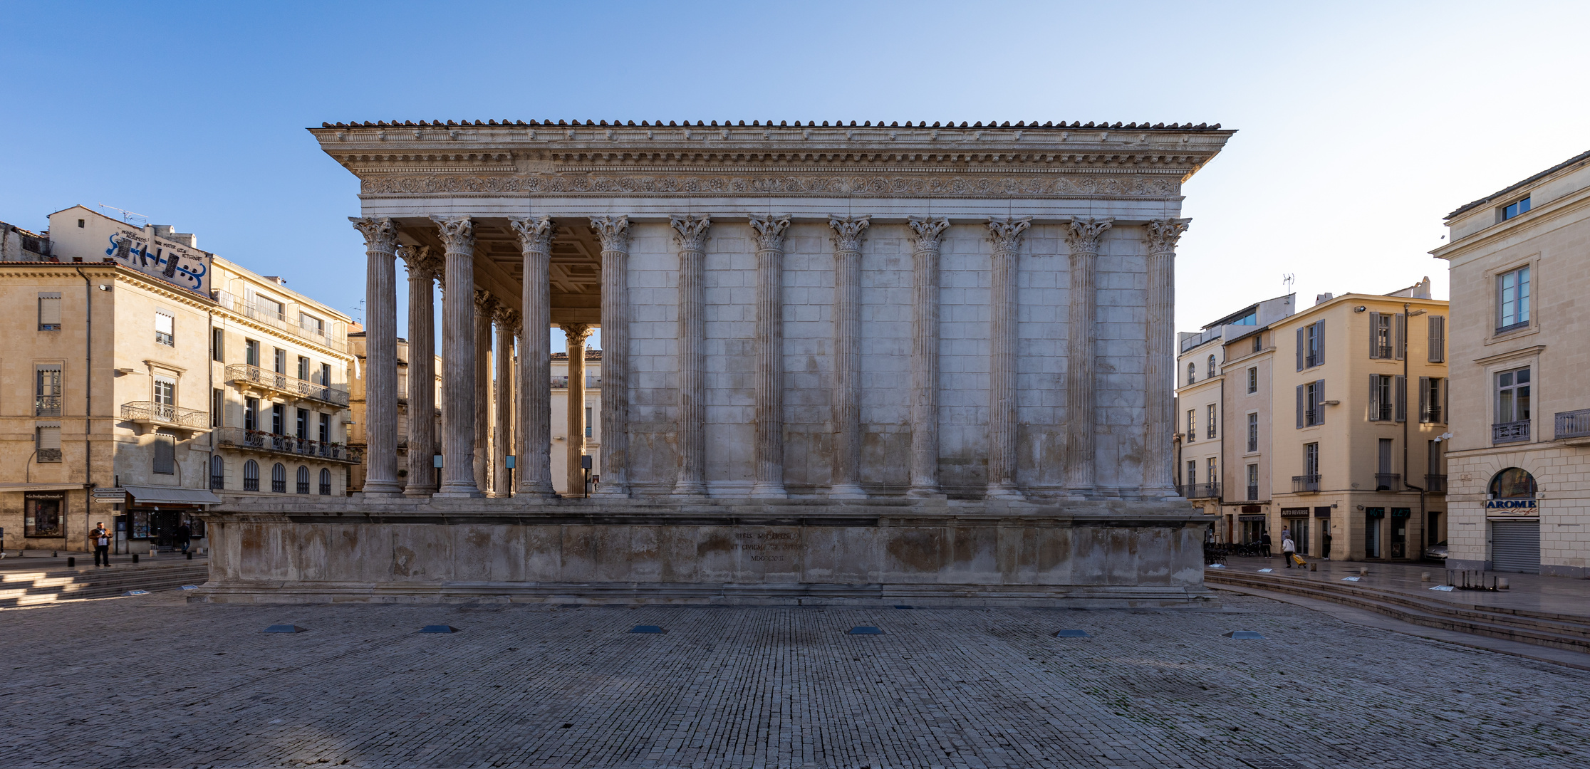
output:
[[1148,238],[1148,324],[1143,361],[1145,418],[1143,494],[1173,497],[1170,435],[1175,432],[1175,302],[1177,242],[1192,219],[1151,219]]

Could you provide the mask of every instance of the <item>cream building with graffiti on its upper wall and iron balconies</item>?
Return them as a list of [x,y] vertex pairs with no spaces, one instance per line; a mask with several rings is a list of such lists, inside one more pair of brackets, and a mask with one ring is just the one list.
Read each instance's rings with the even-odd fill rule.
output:
[[72,207],[3,253],[8,548],[81,550],[114,521],[118,551],[148,551],[202,537],[219,493],[335,494],[358,461],[347,316],[127,219]]

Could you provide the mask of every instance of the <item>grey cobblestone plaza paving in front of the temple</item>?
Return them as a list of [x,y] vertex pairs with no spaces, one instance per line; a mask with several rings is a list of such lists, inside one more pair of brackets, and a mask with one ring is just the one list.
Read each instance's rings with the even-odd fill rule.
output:
[[[156,593],[3,610],[16,653],[0,764],[1590,764],[1590,672],[1221,597],[1207,610],[572,609]],[[262,632],[277,623],[305,632]]]

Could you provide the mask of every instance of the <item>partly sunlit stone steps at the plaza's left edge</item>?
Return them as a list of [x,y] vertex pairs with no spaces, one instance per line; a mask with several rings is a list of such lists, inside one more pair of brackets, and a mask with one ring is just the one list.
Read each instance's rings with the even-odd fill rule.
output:
[[37,570],[6,559],[5,569],[0,569],[0,609],[114,597],[129,589],[175,589],[204,585],[208,578],[210,561],[204,558],[116,564],[108,569],[56,566]]

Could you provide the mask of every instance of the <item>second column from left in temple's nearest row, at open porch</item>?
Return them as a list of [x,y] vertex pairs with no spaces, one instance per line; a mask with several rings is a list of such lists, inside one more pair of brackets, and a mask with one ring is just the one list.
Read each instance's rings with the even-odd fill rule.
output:
[[432,216],[447,246],[442,294],[442,489],[439,497],[479,497],[475,485],[475,224]]

